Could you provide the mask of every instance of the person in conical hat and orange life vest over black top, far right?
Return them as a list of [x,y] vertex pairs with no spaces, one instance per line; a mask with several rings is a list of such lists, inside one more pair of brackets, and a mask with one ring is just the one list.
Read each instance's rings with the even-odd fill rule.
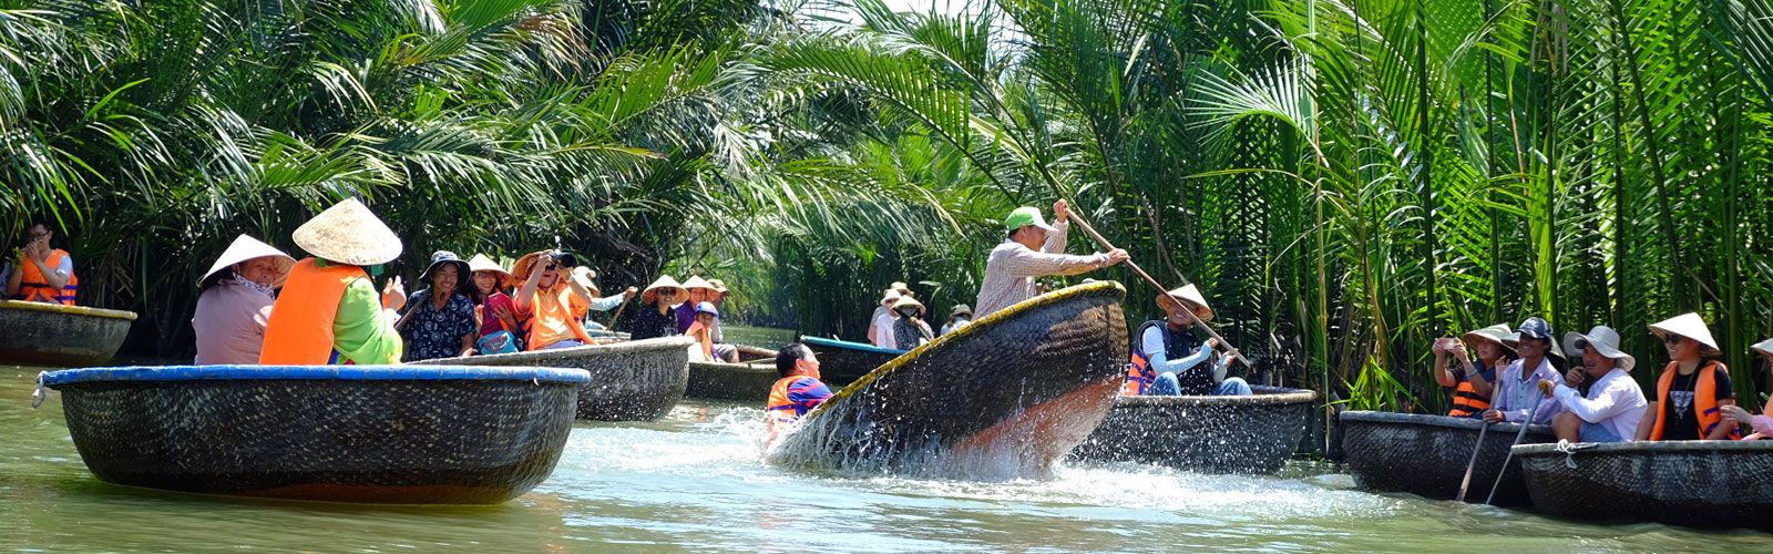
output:
[[1723,421],[1723,407],[1736,405],[1730,369],[1707,357],[1723,355],[1711,328],[1699,314],[1686,313],[1651,325],[1663,339],[1668,366],[1656,378],[1656,401],[1638,423],[1638,440],[1736,439],[1736,424]]

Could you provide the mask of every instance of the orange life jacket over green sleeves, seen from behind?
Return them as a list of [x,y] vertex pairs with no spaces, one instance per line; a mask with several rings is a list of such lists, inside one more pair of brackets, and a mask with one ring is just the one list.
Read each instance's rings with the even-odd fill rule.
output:
[[328,366],[340,364],[333,348],[333,320],[344,289],[356,279],[369,279],[360,266],[328,263],[314,257],[289,268],[284,291],[271,305],[271,320],[264,325],[264,366]]

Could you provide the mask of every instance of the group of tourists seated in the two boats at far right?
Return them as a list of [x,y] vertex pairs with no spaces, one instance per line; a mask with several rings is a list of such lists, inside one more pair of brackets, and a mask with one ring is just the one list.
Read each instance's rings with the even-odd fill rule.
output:
[[[1716,360],[1723,352],[1699,314],[1679,314],[1651,325],[1649,332],[1668,352],[1668,366],[1656,378],[1656,396],[1645,396],[1631,378],[1636,359],[1619,350],[1617,330],[1597,325],[1587,334],[1567,332],[1560,346],[1541,318],[1527,318],[1512,330],[1507,325],[1472,330],[1463,341],[1436,339],[1434,378],[1452,389],[1447,416],[1551,424],[1557,437],[1569,442],[1773,435],[1773,412],[1753,416],[1736,405],[1730,373]],[[1475,360],[1468,344],[1477,352]],[[1773,339],[1752,348],[1773,368]],[[1582,359],[1560,375],[1555,366],[1566,355]],[[1743,437],[1741,426],[1753,433]]]

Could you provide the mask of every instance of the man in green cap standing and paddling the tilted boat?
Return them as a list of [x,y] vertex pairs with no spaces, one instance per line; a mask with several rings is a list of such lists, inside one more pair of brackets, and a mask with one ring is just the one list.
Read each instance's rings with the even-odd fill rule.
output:
[[1073,256],[1066,254],[1066,233],[1071,229],[1071,204],[1053,202],[1053,224],[1041,218],[1041,210],[1023,206],[1004,218],[1007,238],[986,259],[986,277],[979,284],[973,307],[979,316],[989,316],[1011,304],[1034,298],[1037,277],[1076,275],[1106,268],[1128,259],[1126,250]]

